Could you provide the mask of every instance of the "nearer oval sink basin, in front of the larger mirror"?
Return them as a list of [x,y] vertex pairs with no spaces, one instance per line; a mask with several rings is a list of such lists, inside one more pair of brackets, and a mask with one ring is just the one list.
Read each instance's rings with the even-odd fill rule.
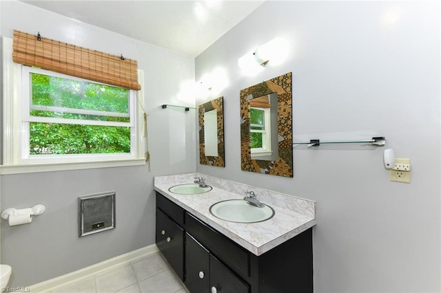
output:
[[229,199],[209,207],[209,212],[219,219],[236,223],[256,223],[274,216],[274,209],[264,204],[263,208],[249,204],[244,199]]

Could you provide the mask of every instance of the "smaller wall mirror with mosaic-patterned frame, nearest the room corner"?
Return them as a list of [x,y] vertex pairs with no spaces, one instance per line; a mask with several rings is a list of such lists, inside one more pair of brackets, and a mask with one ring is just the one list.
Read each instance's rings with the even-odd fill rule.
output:
[[204,165],[225,167],[223,138],[223,97],[198,107],[199,162]]

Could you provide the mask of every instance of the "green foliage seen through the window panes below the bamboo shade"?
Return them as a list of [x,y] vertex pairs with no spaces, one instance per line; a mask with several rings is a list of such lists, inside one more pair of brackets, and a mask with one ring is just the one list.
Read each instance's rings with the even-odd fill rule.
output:
[[[32,74],[32,104],[129,113],[129,90]],[[31,110],[31,116],[130,122],[129,117]],[[130,153],[130,127],[30,122],[30,154]]]

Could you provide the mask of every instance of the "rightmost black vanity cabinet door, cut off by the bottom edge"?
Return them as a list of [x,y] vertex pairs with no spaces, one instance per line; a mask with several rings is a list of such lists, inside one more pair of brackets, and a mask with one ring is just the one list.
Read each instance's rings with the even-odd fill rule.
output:
[[212,293],[249,293],[249,285],[210,255],[209,287]]

